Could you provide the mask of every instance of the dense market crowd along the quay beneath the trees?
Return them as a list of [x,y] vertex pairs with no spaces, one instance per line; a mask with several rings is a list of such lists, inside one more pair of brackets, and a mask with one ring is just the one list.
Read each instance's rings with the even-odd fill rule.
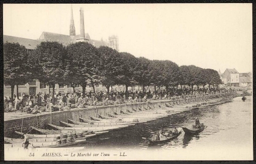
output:
[[14,94],[14,100],[10,97],[6,96],[4,98],[5,111],[17,111],[20,106],[25,107],[34,107],[35,105],[41,107],[48,107],[49,103],[53,105],[58,104],[59,110],[65,110],[67,106],[68,109],[71,107],[86,107],[92,105],[109,105],[109,104],[119,104],[119,103],[127,103],[127,102],[145,102],[148,99],[151,100],[162,100],[162,99],[184,99],[184,98],[192,98],[197,96],[204,96],[208,94],[216,94],[216,93],[225,93],[230,89],[221,88],[207,88],[203,89],[191,89],[191,88],[169,88],[158,89],[155,91],[146,90],[142,91],[129,91],[129,92],[113,92],[110,91],[99,91],[97,93],[94,92],[86,92],[83,94],[81,91],[75,91],[74,93],[54,93],[54,96],[51,94],[41,94],[37,95],[29,95],[24,93],[21,99],[18,99]]

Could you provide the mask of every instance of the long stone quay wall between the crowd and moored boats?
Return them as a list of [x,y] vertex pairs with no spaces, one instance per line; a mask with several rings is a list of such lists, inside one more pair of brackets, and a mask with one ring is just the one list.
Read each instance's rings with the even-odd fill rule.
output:
[[[89,106],[86,108],[74,108],[66,111],[57,111],[57,112],[49,112],[49,113],[41,113],[32,116],[26,116],[17,119],[5,120],[4,122],[4,131],[6,137],[15,137],[15,131],[27,133],[31,130],[31,126],[48,129],[50,128],[48,124],[53,124],[57,126],[60,125],[60,121],[68,122],[68,120],[75,120],[79,122],[79,117],[91,119],[90,117],[99,117],[99,115],[107,115],[121,113],[121,111],[127,112],[129,110],[139,110],[143,108],[147,108],[150,106],[158,105],[159,108],[161,106],[166,106],[165,103],[175,104],[176,107],[165,107],[165,110],[179,110],[182,108],[184,104],[185,106],[191,106],[193,104],[199,104],[200,102],[206,102],[210,99],[220,99],[222,97],[236,97],[237,92],[229,92],[229,93],[221,93],[221,94],[211,94],[200,97],[186,98],[186,99],[175,99],[175,100],[151,100],[150,102],[134,102],[134,103],[122,103],[115,105],[102,105],[102,106]],[[181,105],[183,104],[183,105]],[[189,110],[189,107],[186,108]],[[8,114],[8,113],[7,113]],[[9,113],[11,114],[11,113]],[[14,115],[14,114],[12,114]],[[22,116],[22,115],[20,115]],[[6,119],[5,114],[5,119]]]

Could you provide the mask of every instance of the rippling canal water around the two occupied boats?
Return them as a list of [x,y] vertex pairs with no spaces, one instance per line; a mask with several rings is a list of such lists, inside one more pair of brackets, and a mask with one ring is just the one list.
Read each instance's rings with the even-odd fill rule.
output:
[[[252,96],[233,98],[233,102],[213,106],[209,109],[184,111],[154,121],[117,129],[88,139],[84,146],[88,149],[129,149],[129,150],[176,150],[176,149],[252,149]],[[196,117],[206,129],[198,135],[187,136],[184,131],[177,139],[162,145],[148,145],[144,139],[161,128],[190,127]]]

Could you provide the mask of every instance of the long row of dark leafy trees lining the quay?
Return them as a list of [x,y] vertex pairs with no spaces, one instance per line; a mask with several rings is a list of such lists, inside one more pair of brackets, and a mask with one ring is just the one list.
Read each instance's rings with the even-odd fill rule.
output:
[[[41,42],[35,50],[18,43],[4,44],[4,83],[11,86],[26,84],[33,79],[54,86],[102,84],[108,89],[114,85],[165,86],[218,85],[221,79],[216,70],[193,65],[179,67],[168,60],[136,58],[127,52],[110,47],[96,48],[87,42],[63,46],[58,42]],[[18,90],[18,88],[17,88]],[[17,91],[18,92],[18,91]],[[95,89],[94,89],[95,92]],[[17,93],[18,95],[18,93]],[[13,98],[13,97],[12,97]],[[54,99],[54,96],[53,96]]]

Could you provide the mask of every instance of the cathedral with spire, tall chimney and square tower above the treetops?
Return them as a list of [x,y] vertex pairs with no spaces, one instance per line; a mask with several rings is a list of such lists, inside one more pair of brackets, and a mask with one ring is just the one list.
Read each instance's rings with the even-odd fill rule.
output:
[[83,8],[80,8],[80,35],[76,35],[76,29],[73,18],[73,9],[71,6],[71,19],[70,19],[70,31],[69,35],[42,32],[39,37],[40,41],[56,41],[62,43],[63,45],[68,45],[75,42],[88,42],[96,47],[100,46],[109,46],[117,51],[119,51],[118,47],[118,37],[110,36],[109,42],[101,40],[93,40],[90,38],[88,33],[84,33],[84,17],[83,17]]

